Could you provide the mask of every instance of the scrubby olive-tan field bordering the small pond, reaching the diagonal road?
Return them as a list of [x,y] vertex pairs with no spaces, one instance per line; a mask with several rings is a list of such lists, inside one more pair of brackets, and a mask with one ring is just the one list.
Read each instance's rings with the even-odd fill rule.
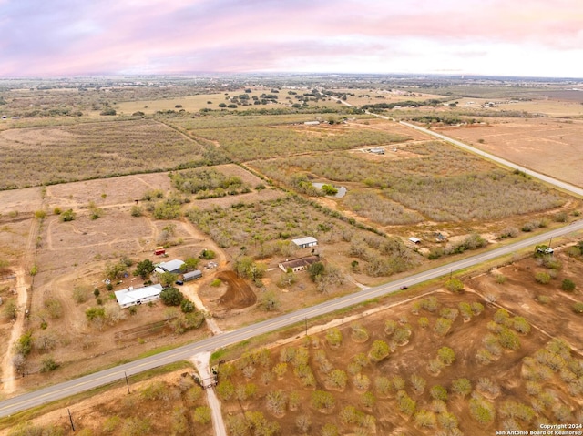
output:
[[[338,200],[380,224],[496,220],[556,208],[557,192],[511,174],[445,143],[399,145],[385,156],[338,152],[251,162],[268,177],[295,187],[298,173],[333,183],[350,182]],[[422,218],[424,217],[424,218]]]

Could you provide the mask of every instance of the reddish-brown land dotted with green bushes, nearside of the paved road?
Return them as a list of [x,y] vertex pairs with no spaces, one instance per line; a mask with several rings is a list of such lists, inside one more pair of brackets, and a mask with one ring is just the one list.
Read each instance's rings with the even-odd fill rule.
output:
[[[554,278],[538,283],[541,271]],[[462,278],[461,293],[417,289],[328,324],[312,320],[300,339],[236,347],[220,356],[230,357],[216,388],[229,434],[486,436],[577,424],[583,330],[572,307],[583,302],[581,277],[583,254],[566,241],[553,258],[528,256]],[[575,289],[561,289],[564,279]],[[168,411],[159,420],[147,412],[154,400]],[[77,429],[92,435],[161,423],[177,434],[211,434],[200,401],[198,387],[175,372],[132,383],[129,396],[125,387],[109,391],[107,407],[103,395],[69,407]],[[64,431],[66,418],[60,410],[27,425]]]

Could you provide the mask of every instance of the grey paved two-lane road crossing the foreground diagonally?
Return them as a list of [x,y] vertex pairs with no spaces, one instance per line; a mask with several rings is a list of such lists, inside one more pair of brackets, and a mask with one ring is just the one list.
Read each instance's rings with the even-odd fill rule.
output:
[[381,286],[364,289],[360,292],[347,295],[339,299],[333,299],[317,306],[300,309],[293,313],[281,315],[277,318],[261,321],[257,324],[243,327],[239,330],[224,332],[212,338],[200,340],[199,342],[185,345],[175,350],[165,351],[155,356],[119,365],[115,368],[101,370],[76,380],[66,381],[55,386],[50,386],[41,390],[19,395],[9,400],[0,401],[0,416],[10,415],[17,411],[24,411],[26,409],[45,404],[50,401],[66,398],[78,392],[102,386],[111,381],[123,379],[125,374],[128,374],[129,376],[178,360],[188,360],[190,357],[199,352],[218,350],[221,347],[225,347],[242,340],[248,340],[254,336],[269,333],[273,330],[278,330],[283,327],[291,326],[292,324],[303,322],[305,319],[311,319],[313,317],[324,315],[338,309],[353,306],[354,304],[361,303],[368,299],[374,299],[376,297],[383,296],[384,294],[394,292],[402,286],[411,286],[424,282],[425,280],[442,277],[446,274],[450,274],[450,272],[469,268],[485,262],[486,260],[495,259],[497,257],[516,252],[519,249],[545,242],[549,240],[549,238],[556,238],[558,236],[566,235],[581,229],[583,229],[583,220],[571,223],[570,225],[563,228],[557,228],[544,234],[509,244],[505,247],[496,248],[467,259],[458,260],[453,263],[437,267],[435,269],[429,269],[405,279],[399,279]]

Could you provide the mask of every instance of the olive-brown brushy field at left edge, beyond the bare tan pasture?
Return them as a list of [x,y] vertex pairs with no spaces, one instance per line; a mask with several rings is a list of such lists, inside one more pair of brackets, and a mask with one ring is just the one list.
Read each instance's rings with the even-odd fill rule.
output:
[[224,162],[218,155],[151,120],[10,129],[0,132],[0,188]]

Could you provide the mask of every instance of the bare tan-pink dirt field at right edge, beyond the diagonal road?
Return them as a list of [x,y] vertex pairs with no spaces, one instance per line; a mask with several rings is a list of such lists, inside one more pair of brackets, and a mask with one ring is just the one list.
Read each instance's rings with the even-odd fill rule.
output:
[[581,120],[493,118],[487,125],[436,130],[511,162],[583,187],[583,174],[579,170],[583,167]]

